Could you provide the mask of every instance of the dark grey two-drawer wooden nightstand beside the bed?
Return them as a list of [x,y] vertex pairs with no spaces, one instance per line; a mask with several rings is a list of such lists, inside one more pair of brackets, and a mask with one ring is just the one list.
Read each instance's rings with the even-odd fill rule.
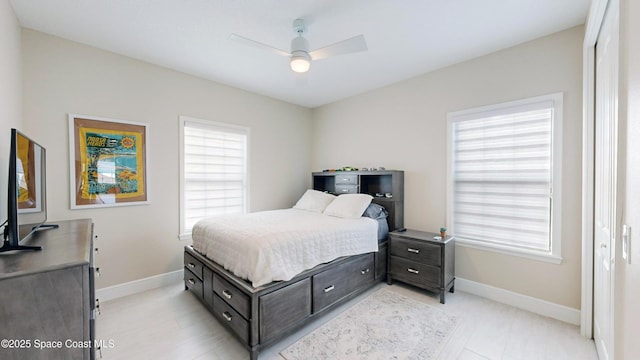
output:
[[398,280],[440,293],[454,291],[455,238],[435,239],[439,234],[406,230],[389,233],[387,283]]

